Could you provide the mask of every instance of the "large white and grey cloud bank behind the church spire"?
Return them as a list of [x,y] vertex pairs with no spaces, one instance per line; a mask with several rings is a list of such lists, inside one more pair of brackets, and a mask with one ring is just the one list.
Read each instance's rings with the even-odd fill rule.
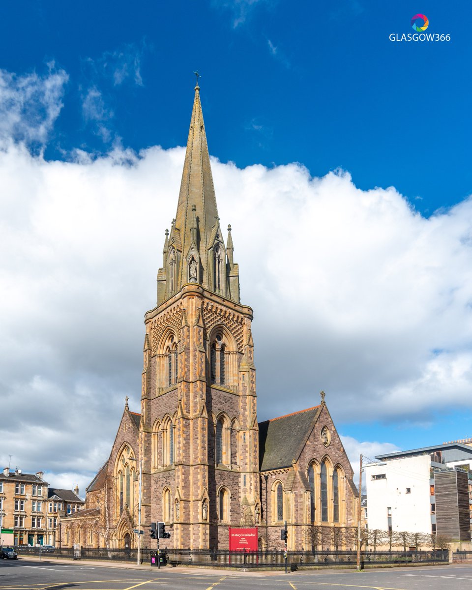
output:
[[[18,128],[32,129],[25,140],[47,137],[60,110],[67,75],[53,80],[43,82],[57,104],[37,92],[50,105],[37,123],[17,109]],[[11,140],[0,151],[4,464],[12,454],[24,471],[83,489],[126,395],[139,411],[143,315],[155,306],[183,158],[183,148],[115,145],[46,161]],[[254,309],[259,419],[313,406],[321,389],[341,423],[470,411],[471,199],[424,218],[394,188],[361,191],[343,171],[212,166],[241,299]],[[396,448],[343,440],[351,458]]]

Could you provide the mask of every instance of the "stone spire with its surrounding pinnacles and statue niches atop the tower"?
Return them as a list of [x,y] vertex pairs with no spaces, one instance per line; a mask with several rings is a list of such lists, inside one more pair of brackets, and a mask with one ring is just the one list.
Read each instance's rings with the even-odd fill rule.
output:
[[230,281],[230,274],[235,274],[234,264],[231,260],[230,267],[227,261],[219,227],[199,90],[197,78],[177,213],[166,244],[166,260],[158,274],[158,304],[186,283],[199,283],[205,289],[239,301],[239,286],[235,289],[233,284],[235,277],[231,276]]

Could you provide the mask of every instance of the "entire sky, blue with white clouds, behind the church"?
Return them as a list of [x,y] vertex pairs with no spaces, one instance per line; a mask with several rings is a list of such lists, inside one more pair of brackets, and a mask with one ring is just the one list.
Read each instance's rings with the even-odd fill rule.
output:
[[[353,456],[471,436],[467,8],[465,2],[360,0],[4,3],[0,169],[6,256],[15,261],[15,268],[5,263],[5,284],[15,285],[12,301],[26,304],[28,287],[18,286],[28,282],[28,272],[37,273],[36,300],[44,301],[38,310],[51,305],[51,313],[31,319],[43,356],[21,381],[18,372],[9,378],[9,368],[21,365],[17,335],[31,323],[23,323],[19,303],[4,307],[9,330],[1,346],[9,364],[2,386],[12,412],[15,396],[35,391],[63,408],[59,413],[78,395],[74,406],[89,424],[103,424],[105,414],[112,419],[100,435],[83,424],[70,446],[60,443],[65,453],[83,438],[74,461],[61,455],[51,463],[27,444],[2,449],[0,458],[13,454],[24,470],[46,468],[64,485],[73,477],[83,484],[106,458],[124,396],[139,409],[142,318],[154,304],[163,231],[176,207],[183,157],[176,148],[188,133],[195,69],[209,149],[219,160],[222,222],[235,227],[232,220],[240,219],[244,244],[235,229],[235,258],[244,302],[255,310],[259,418],[315,405],[326,389]],[[428,33],[451,40],[389,40],[392,33],[412,33],[417,13],[427,15]],[[145,198],[156,211],[143,232],[133,215],[146,217]],[[120,207],[123,217],[114,212]],[[235,207],[245,207],[251,221]],[[19,211],[31,220],[27,246]],[[116,234],[97,230],[93,220],[101,215],[116,215]],[[277,271],[277,260],[287,268],[290,257],[277,247],[286,235],[289,251],[289,238],[297,243],[297,224],[306,220],[299,252],[313,247],[313,272],[306,276],[300,268],[292,292],[287,275]],[[93,244],[91,238],[81,243],[84,235]],[[260,268],[251,266],[251,236],[260,248],[274,245],[261,254]],[[41,253],[28,270],[25,261]],[[260,276],[272,281],[272,299]],[[116,313],[125,309],[127,318],[108,339],[127,346],[113,346],[106,358],[100,353],[100,364],[88,343],[106,340],[103,309],[117,292]],[[314,310],[300,320],[295,312],[303,304]],[[286,314],[284,326],[269,335],[274,322],[264,313],[271,305],[274,314],[281,308]],[[70,334],[51,318],[55,310],[67,324],[72,307],[83,333],[77,324],[71,328],[73,352],[62,358]],[[290,325],[306,330],[297,342],[309,342],[290,350],[300,363],[299,382],[288,369],[274,378],[271,355],[284,358],[274,342],[285,343],[286,356]],[[29,440],[47,439],[45,451],[63,441],[48,419],[46,413],[41,432],[33,415],[17,423],[29,429]],[[4,427],[3,437],[12,432]]]

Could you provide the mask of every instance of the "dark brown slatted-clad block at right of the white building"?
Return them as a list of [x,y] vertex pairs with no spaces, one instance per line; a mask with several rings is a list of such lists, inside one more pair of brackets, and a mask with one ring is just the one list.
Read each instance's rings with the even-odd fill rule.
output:
[[436,532],[453,540],[470,540],[467,473],[441,471],[434,474]]

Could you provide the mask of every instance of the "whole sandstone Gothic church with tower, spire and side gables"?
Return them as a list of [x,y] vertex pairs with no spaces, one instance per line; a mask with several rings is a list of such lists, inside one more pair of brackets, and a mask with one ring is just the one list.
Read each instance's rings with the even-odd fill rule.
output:
[[[352,467],[324,402],[257,422],[253,310],[241,303],[231,226],[224,240],[199,97],[177,212],[166,230],[157,305],[145,314],[141,411],[126,400],[86,507],[62,519],[62,545],[136,546],[142,469],[143,546],[228,548],[228,526],[258,526],[261,547],[318,545],[354,526]],[[316,537],[316,539],[315,539]],[[336,545],[325,540],[326,546]]]

